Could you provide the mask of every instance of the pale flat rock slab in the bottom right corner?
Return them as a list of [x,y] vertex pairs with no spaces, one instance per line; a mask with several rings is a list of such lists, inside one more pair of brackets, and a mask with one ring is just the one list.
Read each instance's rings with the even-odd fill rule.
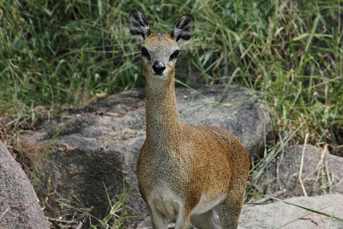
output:
[[[340,194],[293,197],[285,201],[343,219],[343,195]],[[239,229],[280,227],[284,229],[340,229],[343,228],[343,221],[283,202],[243,207]]]

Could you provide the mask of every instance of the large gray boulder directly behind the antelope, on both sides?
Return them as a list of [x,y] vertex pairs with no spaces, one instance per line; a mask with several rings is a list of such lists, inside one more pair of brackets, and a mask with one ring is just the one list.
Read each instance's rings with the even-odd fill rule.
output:
[[[221,96],[223,89],[215,85],[199,92],[177,88],[181,121],[229,129],[251,156],[257,157],[264,135],[267,140],[273,136],[268,108],[255,91],[229,88]],[[47,193],[53,193],[48,198],[47,214],[60,214],[56,200],[74,199],[84,207],[92,206],[93,216],[104,217],[108,196],[118,200],[125,185],[128,214],[147,215],[136,178],[136,162],[145,139],[144,98],[144,90],[119,93],[64,112],[61,118],[45,121],[40,131],[26,136],[31,144],[48,145],[63,129],[42,164],[39,197],[45,199]]]

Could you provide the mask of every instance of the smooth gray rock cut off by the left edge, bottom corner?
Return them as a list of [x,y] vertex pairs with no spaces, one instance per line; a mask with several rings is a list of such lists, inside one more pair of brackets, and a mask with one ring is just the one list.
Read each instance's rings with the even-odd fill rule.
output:
[[23,169],[0,142],[0,228],[49,228]]

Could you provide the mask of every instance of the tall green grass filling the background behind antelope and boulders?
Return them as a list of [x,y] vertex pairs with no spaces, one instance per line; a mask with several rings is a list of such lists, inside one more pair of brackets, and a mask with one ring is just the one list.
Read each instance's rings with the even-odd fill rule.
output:
[[302,143],[308,133],[308,143],[343,156],[340,0],[0,0],[1,139],[96,97],[144,87],[140,44],[128,28],[133,9],[152,32],[194,16],[178,86],[260,91],[275,145]]

